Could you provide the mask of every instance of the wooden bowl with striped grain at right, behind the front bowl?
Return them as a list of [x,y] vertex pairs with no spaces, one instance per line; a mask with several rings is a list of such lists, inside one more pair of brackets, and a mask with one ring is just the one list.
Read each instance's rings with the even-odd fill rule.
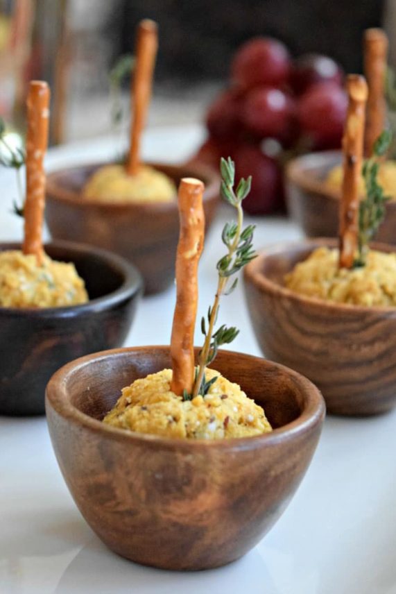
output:
[[[293,293],[284,275],[318,246],[311,239],[266,248],[245,269],[255,334],[266,357],[318,386],[334,414],[369,415],[396,405],[396,307],[329,303]],[[373,244],[385,252],[395,246]]]

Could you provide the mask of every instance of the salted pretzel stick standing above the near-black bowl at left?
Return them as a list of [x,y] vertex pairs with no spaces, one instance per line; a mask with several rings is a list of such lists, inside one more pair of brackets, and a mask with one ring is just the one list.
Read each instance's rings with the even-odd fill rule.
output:
[[42,226],[45,203],[44,155],[48,144],[50,91],[43,80],[31,80],[27,99],[26,201],[24,206],[24,254],[44,255]]

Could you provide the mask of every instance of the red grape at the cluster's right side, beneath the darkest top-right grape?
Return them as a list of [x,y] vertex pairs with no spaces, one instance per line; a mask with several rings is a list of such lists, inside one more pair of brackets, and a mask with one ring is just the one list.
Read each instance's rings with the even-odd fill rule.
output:
[[334,83],[313,85],[298,102],[298,121],[311,148],[338,148],[347,113],[347,95]]

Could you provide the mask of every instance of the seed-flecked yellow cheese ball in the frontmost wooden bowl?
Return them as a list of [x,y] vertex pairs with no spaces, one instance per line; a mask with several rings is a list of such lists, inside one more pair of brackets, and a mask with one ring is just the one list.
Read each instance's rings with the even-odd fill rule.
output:
[[174,439],[223,439],[272,431],[264,410],[218,371],[205,379],[216,382],[205,396],[182,400],[171,391],[172,370],[164,369],[123,388],[103,423],[139,433]]

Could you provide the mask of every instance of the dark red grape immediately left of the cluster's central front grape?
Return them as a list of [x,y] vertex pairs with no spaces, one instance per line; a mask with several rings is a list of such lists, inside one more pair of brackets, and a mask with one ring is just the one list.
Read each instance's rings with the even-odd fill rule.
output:
[[209,134],[217,139],[235,138],[241,130],[241,94],[225,91],[215,99],[207,112]]

